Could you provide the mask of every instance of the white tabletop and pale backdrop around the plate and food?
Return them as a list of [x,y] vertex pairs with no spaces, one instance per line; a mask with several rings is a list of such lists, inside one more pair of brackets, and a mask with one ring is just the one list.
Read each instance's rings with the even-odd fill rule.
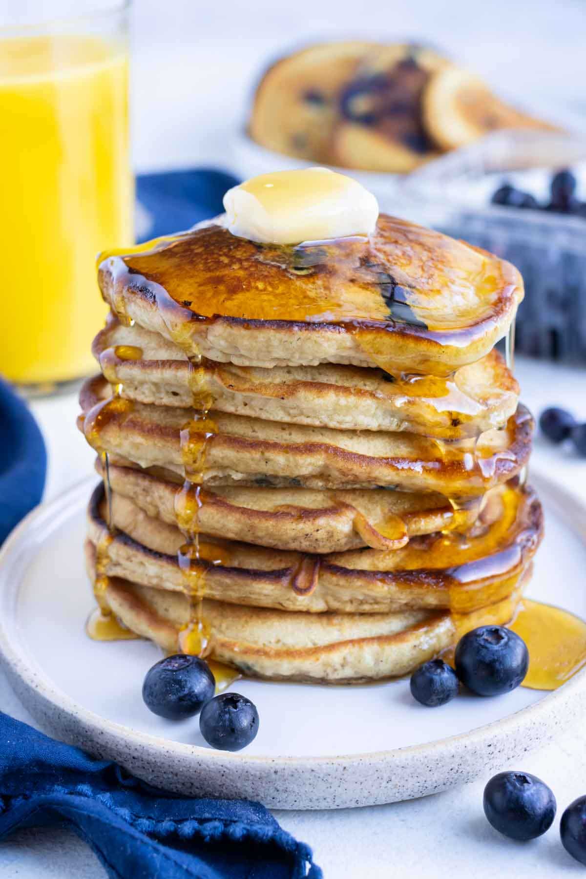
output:
[[[242,117],[251,77],[267,55],[310,36],[361,33],[431,40],[527,102],[534,104],[538,95],[549,104],[561,101],[574,111],[586,109],[586,10],[574,0],[534,0],[530,15],[525,4],[510,0],[365,0],[358,26],[356,4],[344,0],[228,0],[215,10],[212,5],[171,0],[166,8],[172,14],[165,16],[158,0],[136,5],[134,156],[141,170],[201,163],[228,167],[226,132]],[[0,16],[2,11],[0,4]],[[519,359],[516,372],[523,399],[534,412],[558,404],[586,417],[584,371]],[[93,454],[76,431],[75,396],[39,401],[33,411],[47,440],[48,499],[88,474]],[[549,447],[538,437],[533,466],[586,498],[586,461],[571,450]],[[32,723],[2,674],[0,706]],[[326,879],[583,875],[561,847],[558,821],[571,800],[586,794],[585,739],[578,727],[510,767],[539,775],[558,799],[553,828],[531,844],[514,844],[488,825],[481,806],[488,779],[408,803],[275,814],[286,830],[313,846]],[[0,845],[3,879],[104,875],[88,847],[69,832],[20,832]]]

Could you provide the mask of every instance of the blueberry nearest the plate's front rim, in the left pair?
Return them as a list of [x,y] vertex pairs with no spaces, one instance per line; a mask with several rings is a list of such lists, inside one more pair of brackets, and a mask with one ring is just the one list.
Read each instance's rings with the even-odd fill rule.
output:
[[208,745],[221,751],[241,751],[258,732],[258,712],[246,696],[222,693],[204,705],[199,730]]

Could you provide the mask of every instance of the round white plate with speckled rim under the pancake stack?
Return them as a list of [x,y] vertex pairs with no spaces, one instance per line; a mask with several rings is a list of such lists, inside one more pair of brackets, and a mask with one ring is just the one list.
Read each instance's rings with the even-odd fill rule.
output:
[[[83,624],[84,507],[93,479],[31,513],[0,554],[0,651],[44,729],[165,788],[248,797],[280,809],[391,803],[470,781],[519,758],[586,711],[586,669],[552,694],[519,687],[423,708],[407,680],[307,686],[241,680],[260,729],[248,749],[213,751],[198,719],[170,723],[141,700],[161,656],[148,642],[96,643]],[[586,507],[545,479],[546,538],[529,594],[586,616]]]

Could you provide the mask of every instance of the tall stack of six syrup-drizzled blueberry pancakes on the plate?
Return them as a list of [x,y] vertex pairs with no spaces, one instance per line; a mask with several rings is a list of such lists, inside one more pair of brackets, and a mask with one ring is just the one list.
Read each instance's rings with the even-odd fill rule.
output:
[[494,350],[513,266],[384,214],[294,247],[218,218],[105,256],[99,283],[80,425],[108,476],[86,543],[104,614],[327,682],[510,621],[542,531],[532,418]]

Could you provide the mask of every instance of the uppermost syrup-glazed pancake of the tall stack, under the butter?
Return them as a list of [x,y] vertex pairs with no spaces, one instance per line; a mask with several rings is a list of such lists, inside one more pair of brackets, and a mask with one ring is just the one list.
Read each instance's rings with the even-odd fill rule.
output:
[[105,301],[190,357],[448,375],[491,350],[523,299],[510,263],[387,214],[368,238],[297,246],[224,222],[102,254]]

